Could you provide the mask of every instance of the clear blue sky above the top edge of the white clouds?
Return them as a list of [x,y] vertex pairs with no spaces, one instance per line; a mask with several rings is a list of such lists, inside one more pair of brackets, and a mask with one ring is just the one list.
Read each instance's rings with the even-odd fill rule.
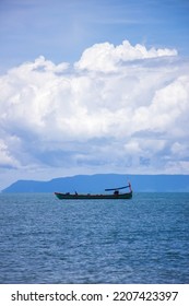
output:
[[188,55],[187,0],[1,0],[1,69],[43,55],[73,62],[96,43],[177,48]]

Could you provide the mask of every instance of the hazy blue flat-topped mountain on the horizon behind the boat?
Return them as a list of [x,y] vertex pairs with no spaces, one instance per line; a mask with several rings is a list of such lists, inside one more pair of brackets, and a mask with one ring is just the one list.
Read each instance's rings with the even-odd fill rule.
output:
[[189,175],[96,174],[60,177],[49,181],[17,180],[2,192],[104,192],[105,188],[126,186],[134,192],[189,192]]

